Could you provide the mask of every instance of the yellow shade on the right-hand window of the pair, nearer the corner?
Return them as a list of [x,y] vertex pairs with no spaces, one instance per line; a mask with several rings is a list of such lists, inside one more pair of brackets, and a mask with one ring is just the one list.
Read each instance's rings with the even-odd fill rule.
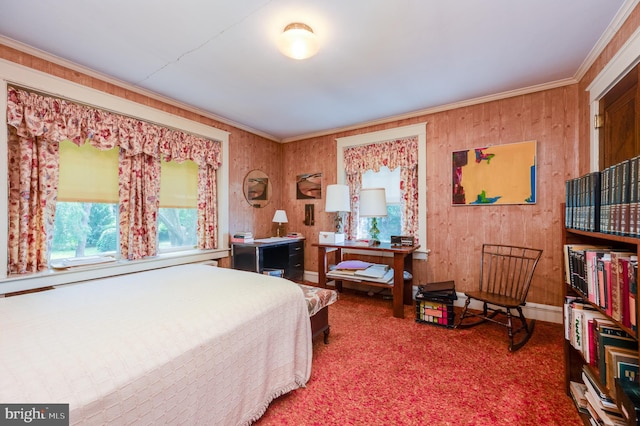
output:
[[160,207],[195,209],[198,207],[198,165],[191,160],[178,163],[162,160]]

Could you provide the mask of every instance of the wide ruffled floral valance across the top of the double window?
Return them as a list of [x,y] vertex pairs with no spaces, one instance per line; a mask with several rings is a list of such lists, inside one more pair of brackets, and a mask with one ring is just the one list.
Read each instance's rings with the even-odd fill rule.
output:
[[193,160],[213,169],[221,165],[221,144],[217,141],[13,87],[8,88],[7,123],[19,136],[52,143],[68,139],[103,150],[118,146],[127,156],[162,155],[167,161]]

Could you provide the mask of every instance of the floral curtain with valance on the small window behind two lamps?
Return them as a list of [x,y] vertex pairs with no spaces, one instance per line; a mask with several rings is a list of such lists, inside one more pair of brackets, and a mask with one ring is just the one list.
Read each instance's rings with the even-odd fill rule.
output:
[[362,174],[367,170],[379,172],[400,167],[400,195],[402,197],[402,234],[418,238],[418,137],[397,139],[344,150],[347,185],[351,196],[351,214],[346,232],[355,238],[360,218],[358,201]]

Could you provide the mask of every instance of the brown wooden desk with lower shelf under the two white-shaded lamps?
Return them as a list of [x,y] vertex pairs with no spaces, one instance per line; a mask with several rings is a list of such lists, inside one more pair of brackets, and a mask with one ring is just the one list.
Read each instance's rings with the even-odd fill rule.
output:
[[[420,246],[405,247],[392,246],[391,244],[382,243],[377,246],[362,246],[349,241],[336,244],[312,244],[318,247],[318,284],[322,287],[327,286],[327,250],[336,250],[336,262],[342,261],[342,249],[364,250],[371,252],[387,252],[393,253],[393,316],[396,318],[404,318],[404,306],[413,304],[413,279],[404,281],[404,271],[413,273],[413,256],[412,253]],[[375,253],[371,254],[372,256]],[[364,284],[372,286],[384,286],[380,283],[370,283],[362,281]],[[342,291],[342,281],[336,280],[336,289]]]

